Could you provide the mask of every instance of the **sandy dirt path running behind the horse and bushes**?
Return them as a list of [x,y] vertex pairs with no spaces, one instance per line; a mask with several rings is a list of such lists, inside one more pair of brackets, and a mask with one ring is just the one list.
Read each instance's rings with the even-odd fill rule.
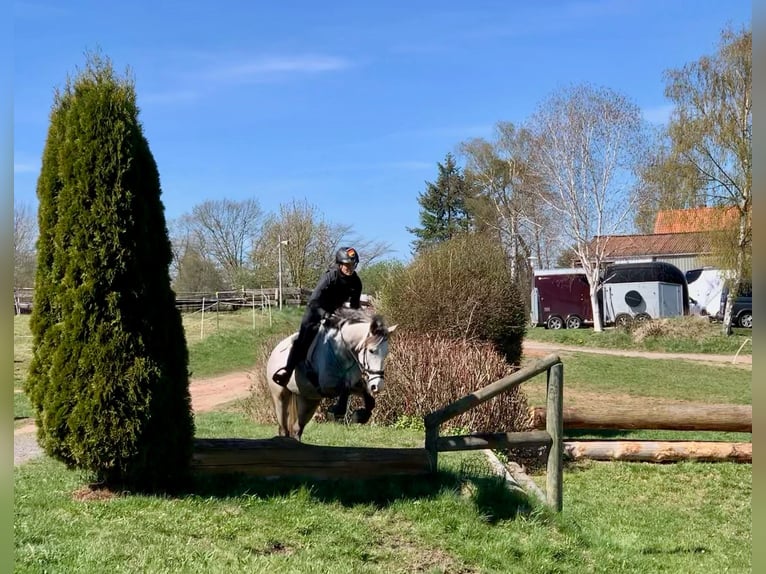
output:
[[[528,358],[542,357],[549,353],[600,353],[623,357],[644,357],[647,359],[681,359],[710,364],[734,364],[752,369],[752,355],[706,355],[691,353],[652,353],[648,351],[626,351],[619,349],[596,349],[557,345],[539,341],[524,341],[524,355]],[[192,409],[195,413],[211,411],[231,401],[245,398],[250,394],[253,383],[251,371],[227,373],[209,379],[193,380],[189,384]],[[30,421],[19,425],[13,432],[13,463],[20,464],[42,453],[37,445],[35,423]]]

